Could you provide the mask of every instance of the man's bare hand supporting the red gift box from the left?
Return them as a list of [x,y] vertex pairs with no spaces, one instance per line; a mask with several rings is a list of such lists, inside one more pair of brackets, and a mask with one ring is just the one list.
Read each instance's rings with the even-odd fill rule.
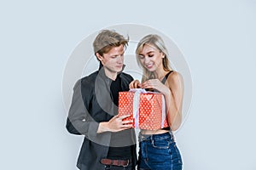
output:
[[123,119],[129,116],[131,115],[113,116],[108,122],[100,122],[97,133],[119,132],[131,128],[132,121],[123,121]]

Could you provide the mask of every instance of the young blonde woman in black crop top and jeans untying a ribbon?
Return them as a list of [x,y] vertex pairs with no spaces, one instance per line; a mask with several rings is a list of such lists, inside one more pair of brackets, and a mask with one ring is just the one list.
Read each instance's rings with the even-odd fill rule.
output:
[[169,127],[141,130],[139,134],[139,170],[181,170],[182,158],[172,131],[182,122],[183,79],[170,67],[165,43],[158,35],[148,35],[137,44],[137,62],[143,68],[142,82],[130,83],[130,88],[154,89],[164,94]]

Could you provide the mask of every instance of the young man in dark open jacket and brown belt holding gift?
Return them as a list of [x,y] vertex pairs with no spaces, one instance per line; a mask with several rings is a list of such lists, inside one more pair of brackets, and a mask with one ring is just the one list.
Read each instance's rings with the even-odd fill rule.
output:
[[80,79],[73,88],[67,117],[69,133],[84,135],[77,167],[81,170],[135,169],[136,137],[127,116],[117,116],[120,91],[133,78],[123,73],[128,40],[115,31],[101,31],[93,48],[98,71]]

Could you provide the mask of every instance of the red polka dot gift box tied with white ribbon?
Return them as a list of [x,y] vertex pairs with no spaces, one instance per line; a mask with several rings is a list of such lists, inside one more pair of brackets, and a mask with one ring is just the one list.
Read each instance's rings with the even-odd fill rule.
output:
[[129,92],[119,92],[119,116],[131,115],[133,127],[157,130],[169,127],[166,120],[166,105],[163,94],[134,88]]

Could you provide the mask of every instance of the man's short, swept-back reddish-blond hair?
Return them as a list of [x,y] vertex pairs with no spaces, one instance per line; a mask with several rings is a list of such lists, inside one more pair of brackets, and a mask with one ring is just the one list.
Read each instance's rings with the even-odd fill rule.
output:
[[103,55],[108,53],[112,48],[123,45],[128,46],[129,38],[125,39],[116,31],[102,30],[93,42],[94,54]]

